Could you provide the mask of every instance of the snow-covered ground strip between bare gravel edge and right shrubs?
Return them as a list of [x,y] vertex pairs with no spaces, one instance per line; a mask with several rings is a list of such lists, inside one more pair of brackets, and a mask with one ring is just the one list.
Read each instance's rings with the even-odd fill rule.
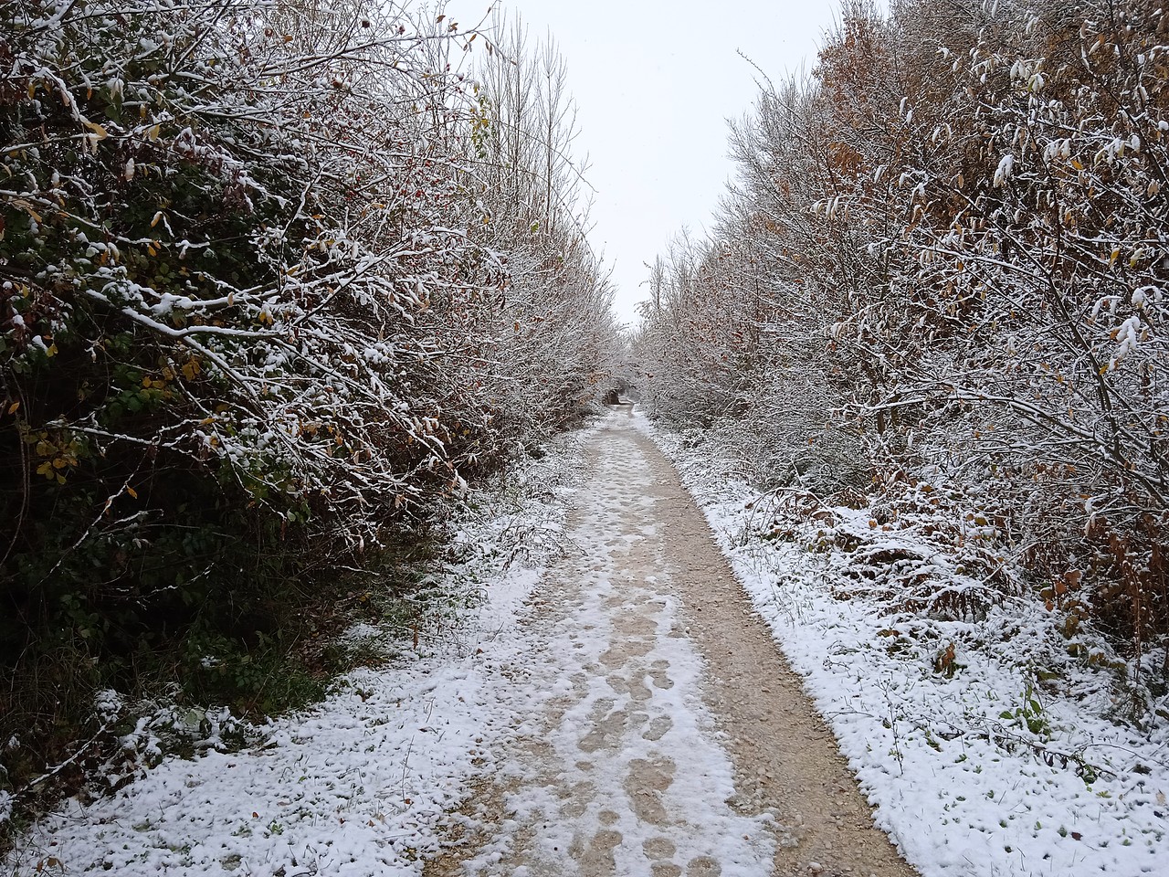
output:
[[[720,475],[710,447],[639,427],[679,468],[877,823],[922,877],[1167,872],[1169,728],[1109,720],[1112,686],[1050,644],[1042,606],[961,622],[891,615],[842,587],[839,552],[814,529],[768,538],[773,519],[761,518],[782,512]],[[832,512],[858,539],[890,539]],[[1045,685],[1052,674],[1077,696]]]

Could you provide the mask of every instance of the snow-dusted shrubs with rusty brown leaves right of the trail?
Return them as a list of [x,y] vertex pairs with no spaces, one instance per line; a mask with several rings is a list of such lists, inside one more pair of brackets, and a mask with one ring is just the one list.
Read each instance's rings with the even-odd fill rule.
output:
[[715,232],[659,261],[639,339],[658,416],[976,548],[1066,648],[1112,637],[1141,720],[1169,717],[1167,34],[1140,0],[849,4],[732,126]]

